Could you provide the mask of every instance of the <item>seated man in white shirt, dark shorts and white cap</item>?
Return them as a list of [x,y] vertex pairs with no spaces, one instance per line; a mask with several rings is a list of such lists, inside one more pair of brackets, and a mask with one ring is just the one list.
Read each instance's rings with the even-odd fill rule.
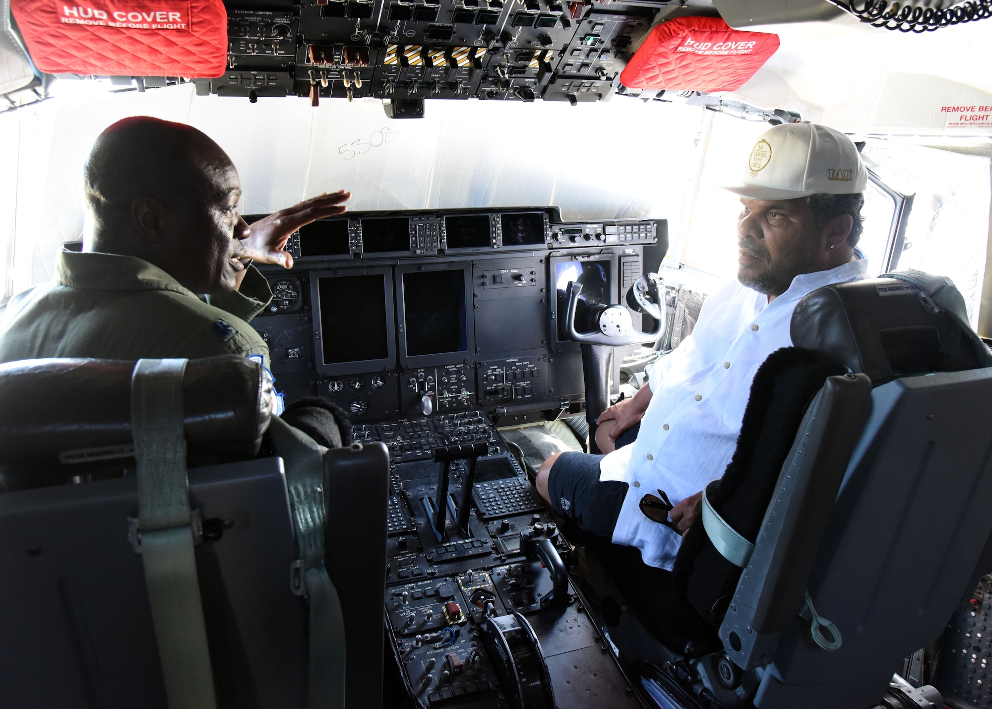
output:
[[734,453],[755,372],[792,346],[797,303],[868,275],[855,250],[867,172],[843,133],[776,126],[752,149],[743,182],[727,188],[743,205],[737,281],[705,301],[692,335],[659,360],[648,385],[599,417],[607,455],[555,454],[538,473],[538,492],[569,524],[640,549],[648,585],[670,583],[701,491]]

